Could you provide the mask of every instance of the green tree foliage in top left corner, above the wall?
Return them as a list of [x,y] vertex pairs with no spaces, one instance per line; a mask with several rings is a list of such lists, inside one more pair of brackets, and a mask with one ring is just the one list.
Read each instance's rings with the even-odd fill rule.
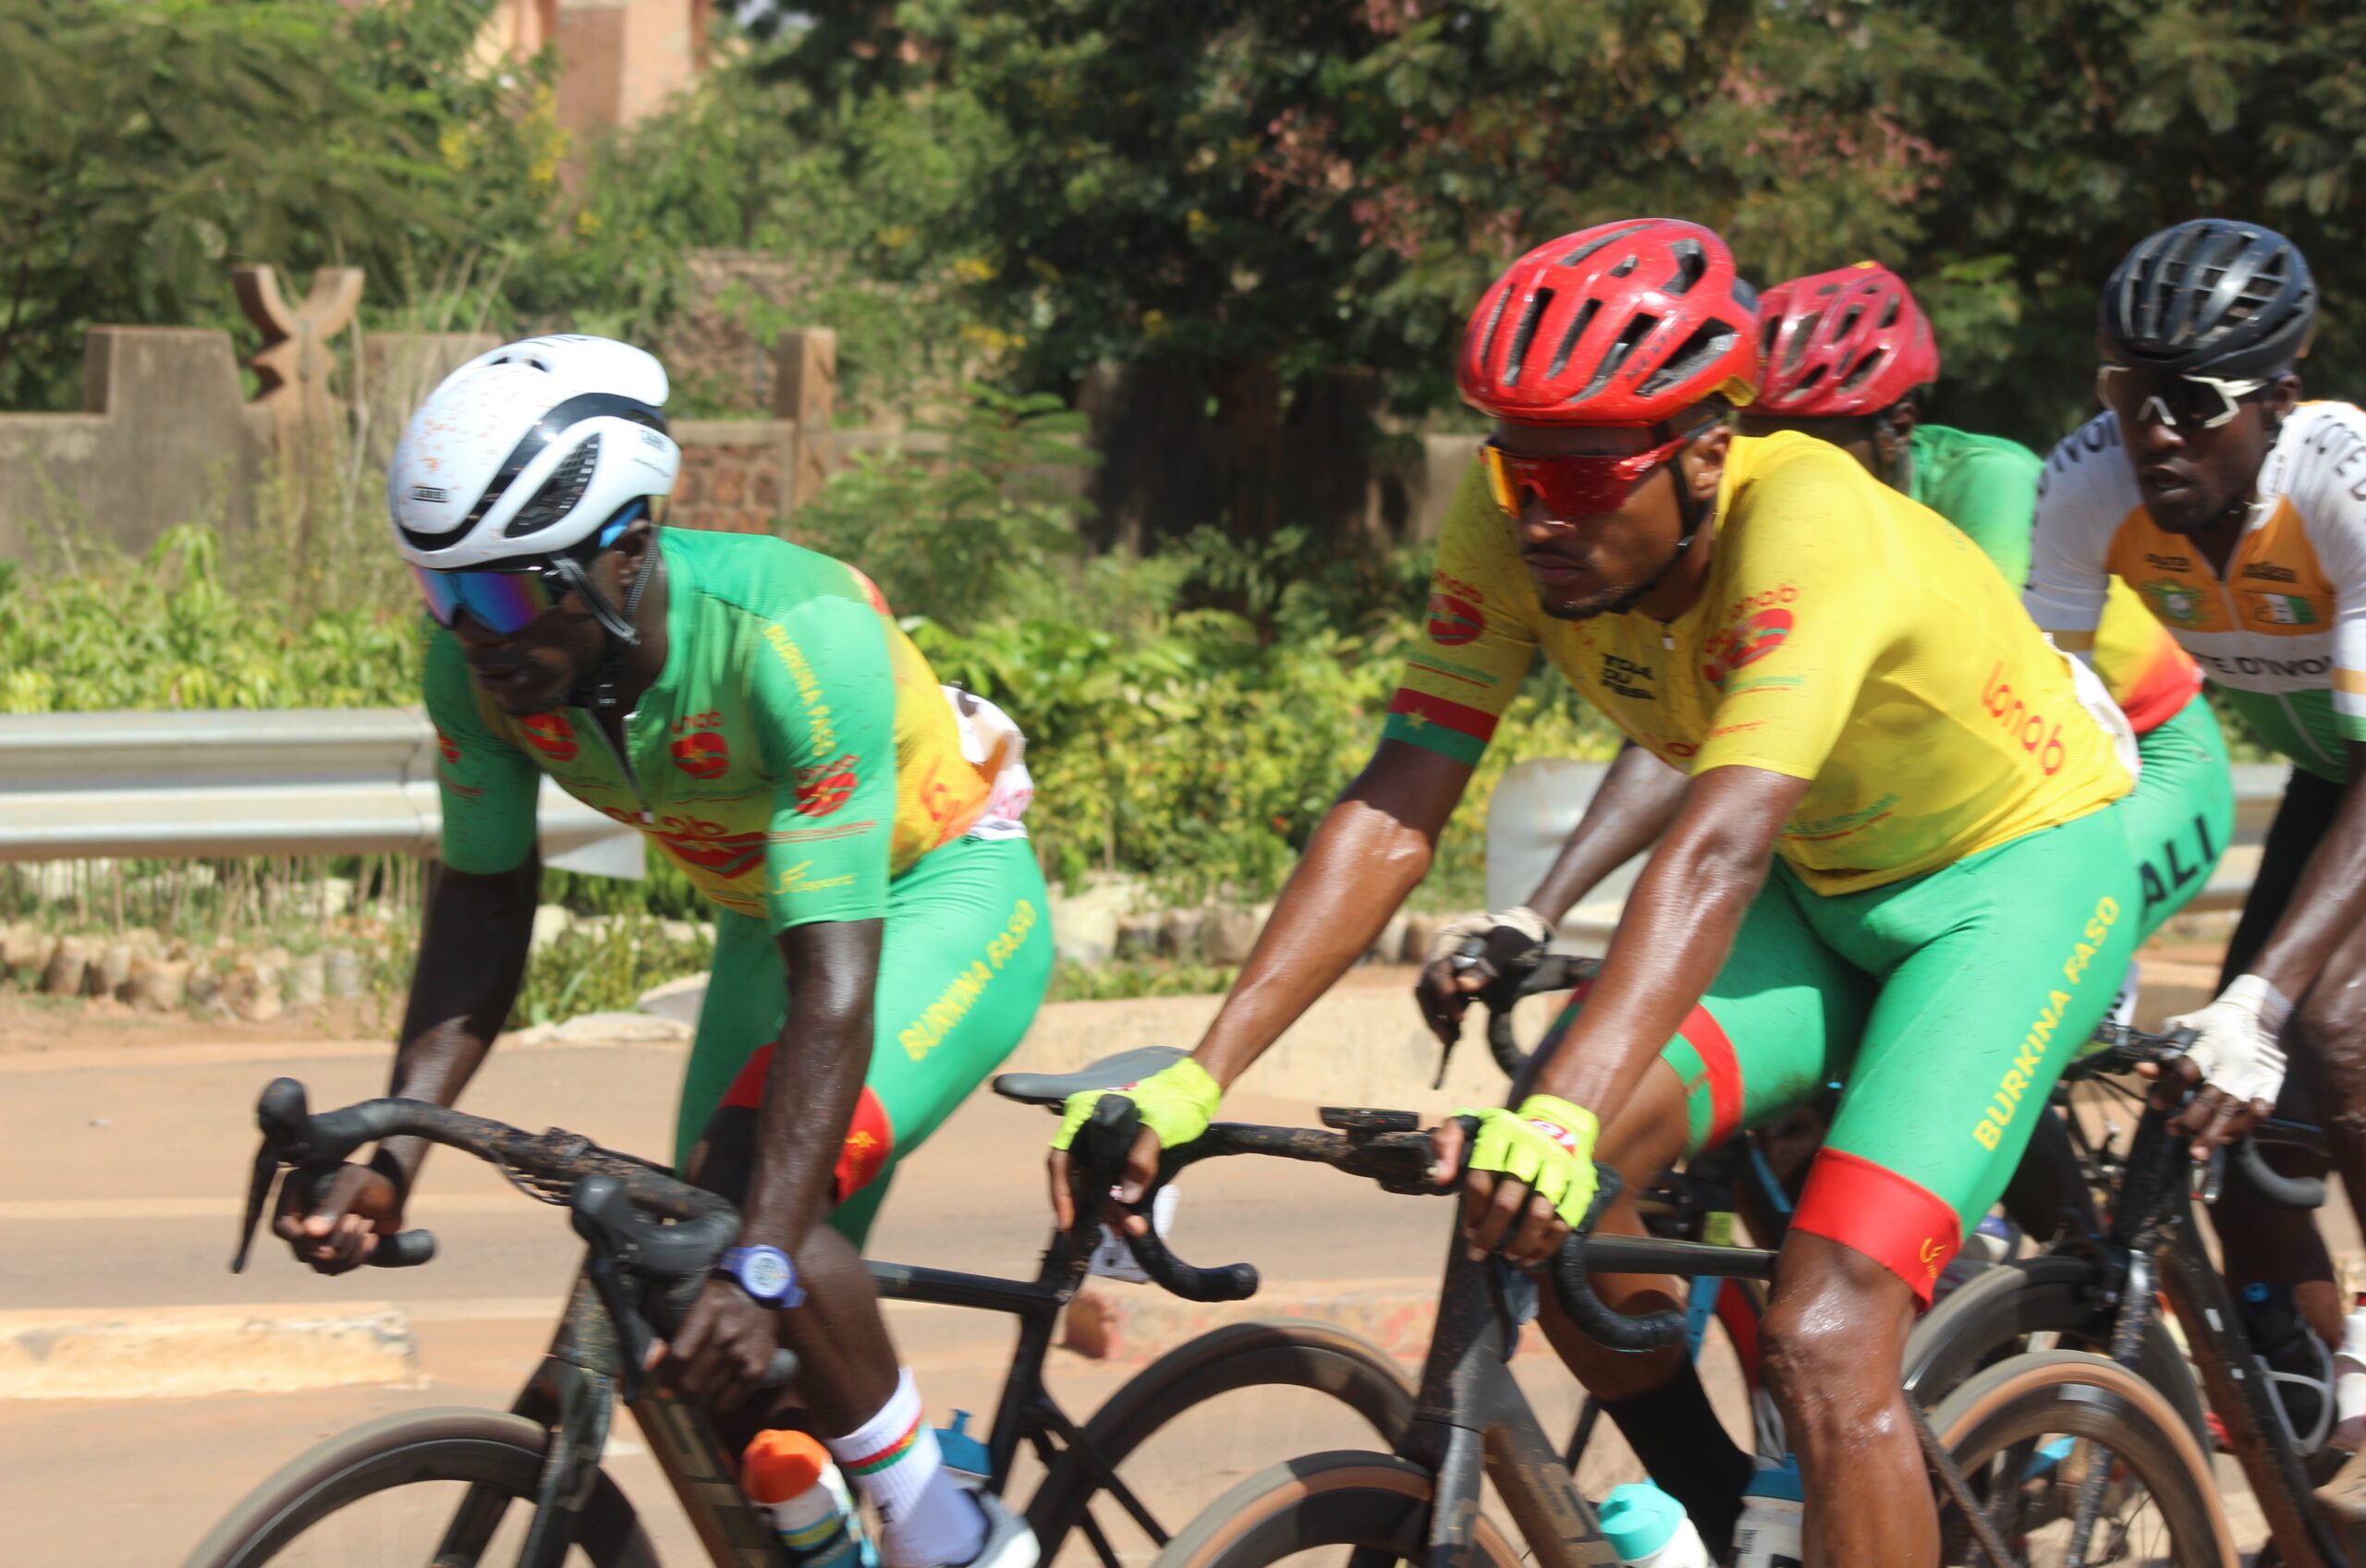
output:
[[483,21],[478,0],[0,0],[0,407],[73,407],[95,322],[232,324],[234,260],[386,286],[473,225],[537,229],[549,95],[476,69]]

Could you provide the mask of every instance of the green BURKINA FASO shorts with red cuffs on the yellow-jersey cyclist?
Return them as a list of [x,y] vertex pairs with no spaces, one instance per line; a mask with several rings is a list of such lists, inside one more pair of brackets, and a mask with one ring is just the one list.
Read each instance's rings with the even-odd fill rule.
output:
[[1791,1227],[1867,1253],[1928,1303],[2103,1019],[2139,908],[2120,804],[1841,896],[1777,858],[1661,1052],[1685,1083],[1687,1149],[1841,1083]]

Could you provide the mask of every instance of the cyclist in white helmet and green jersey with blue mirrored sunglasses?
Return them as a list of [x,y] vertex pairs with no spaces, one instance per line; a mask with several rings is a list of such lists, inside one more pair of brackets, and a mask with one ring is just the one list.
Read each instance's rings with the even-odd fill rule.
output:
[[[395,449],[445,816],[390,1093],[452,1104],[509,1015],[542,780],[639,828],[715,903],[674,1159],[741,1206],[667,1346],[677,1386],[762,1421],[788,1346],[894,1568],[1029,1568],[1024,1521],[942,1466],[856,1253],[894,1161],[1017,1045],[1051,974],[1022,740],[937,686],[852,568],[660,530],[665,395],[636,348],[530,338],[445,378]],[[424,1152],[291,1190],[277,1232],[322,1272],[367,1261]]]

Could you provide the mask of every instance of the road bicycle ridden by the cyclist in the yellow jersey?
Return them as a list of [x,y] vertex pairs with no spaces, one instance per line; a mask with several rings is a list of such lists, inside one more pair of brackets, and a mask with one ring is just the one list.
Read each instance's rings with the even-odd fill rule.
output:
[[[1131,1142],[1133,1107],[1105,1100],[1088,1135]],[[1157,1185],[1202,1159],[1266,1154],[1320,1161],[1391,1192],[1436,1192],[1429,1138],[1410,1112],[1325,1112],[1325,1128],[1218,1123],[1162,1154]],[[1595,1216],[1618,1192],[1597,1166]],[[1677,1343],[1682,1310],[1611,1313],[1588,1275],[1720,1275],[1767,1279],[1774,1253],[1659,1237],[1599,1237],[1585,1227],[1550,1268],[1559,1308],[1592,1339],[1644,1350]],[[1176,1265],[1188,1270],[1188,1265]],[[1514,1568],[1614,1568],[1592,1504],[1545,1438],[1510,1372],[1510,1350],[1536,1315],[1536,1282],[1500,1256],[1472,1261],[1450,1242],[1436,1329],[1413,1424],[1391,1452],[1304,1454],[1242,1480],[1159,1554],[1157,1568],[1268,1568],[1282,1559],[1351,1554],[1356,1568],[1413,1561],[1434,1568],[1483,1561]],[[2234,1542],[2217,1507],[2210,1459],[2177,1410],[2120,1362],[2077,1350],[2016,1355],[1952,1391],[1928,1414],[1907,1400],[1938,1485],[1947,1563],[2087,1561],[2066,1540],[2113,1509],[2113,1540],[2179,1568],[2231,1568]],[[2082,1514],[2089,1478],[2108,1485]],[[1493,1483],[1514,1540],[1483,1511]],[[2080,1507],[2073,1507],[2073,1499]],[[1332,1561],[1325,1556],[1325,1561]]]

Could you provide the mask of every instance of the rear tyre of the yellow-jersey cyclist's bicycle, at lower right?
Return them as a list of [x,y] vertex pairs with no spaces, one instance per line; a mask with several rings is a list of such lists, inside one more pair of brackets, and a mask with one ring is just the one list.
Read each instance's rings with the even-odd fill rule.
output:
[[2177,1568],[2241,1563],[2205,1450],[2160,1391],[2115,1360],[2084,1350],[2016,1355],[1964,1381],[1931,1412],[1931,1426],[1966,1478],[2018,1443],[2089,1438],[2144,1483],[2170,1525]]

